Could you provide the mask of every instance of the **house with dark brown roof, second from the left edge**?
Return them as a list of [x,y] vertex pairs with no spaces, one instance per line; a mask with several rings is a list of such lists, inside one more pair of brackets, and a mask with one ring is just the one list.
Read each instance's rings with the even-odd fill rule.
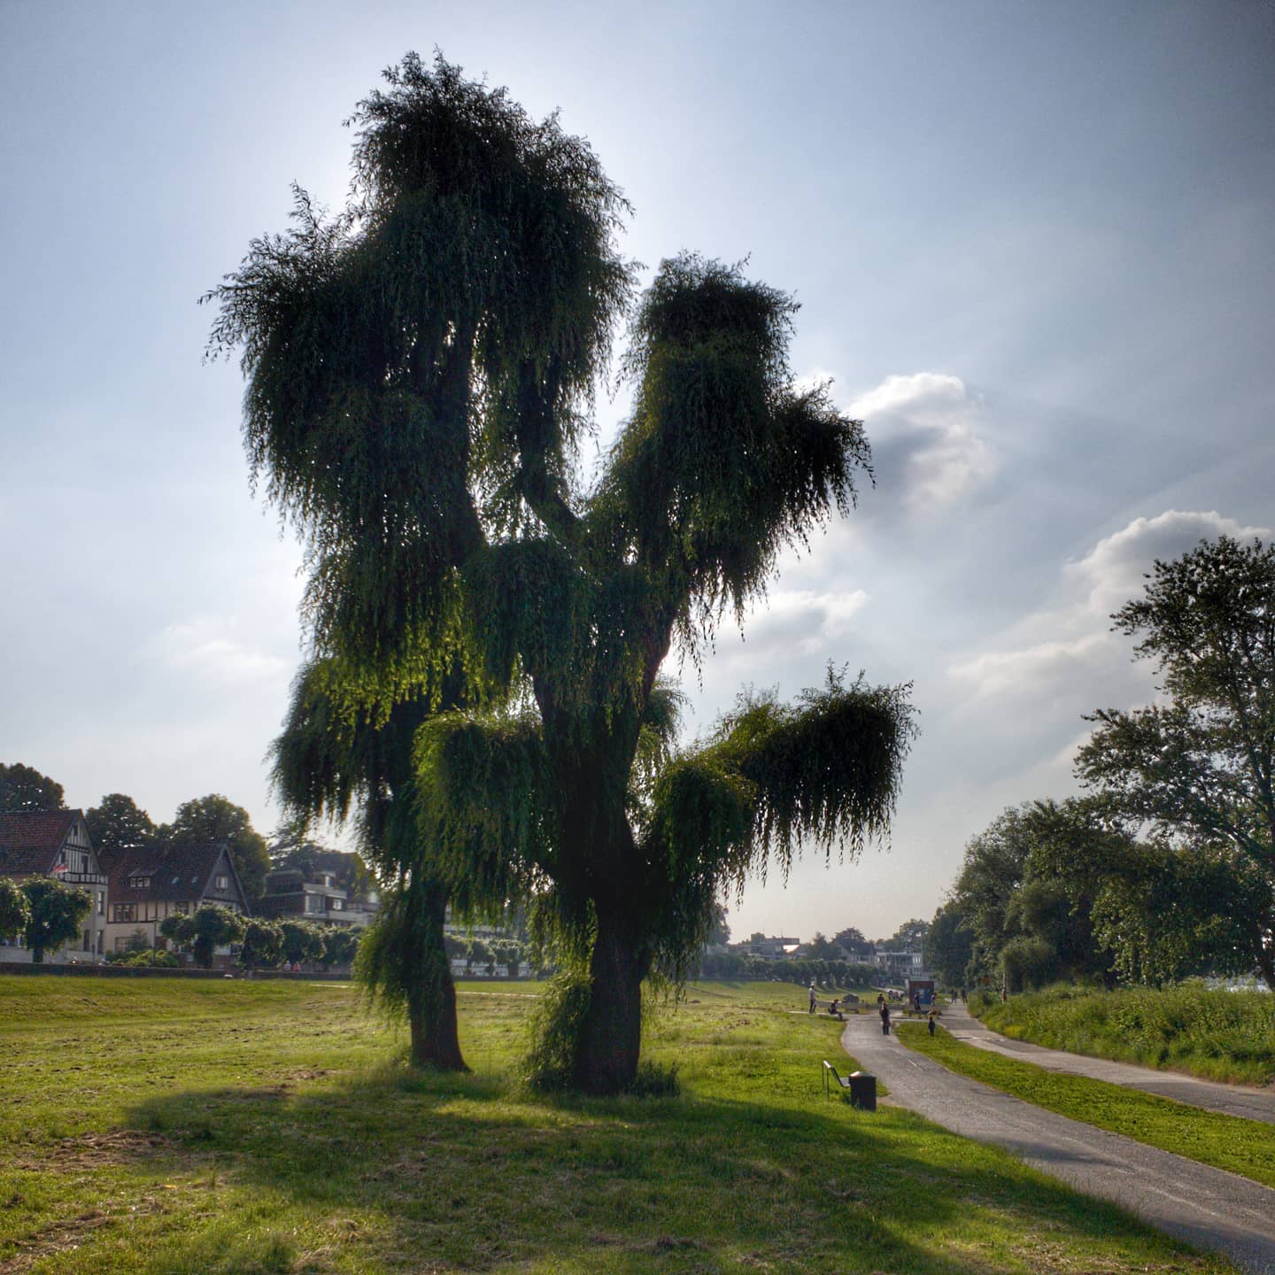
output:
[[[205,904],[251,910],[224,843],[103,852],[110,878],[106,942],[111,951],[163,947],[159,923]],[[224,955],[229,949],[219,949]]]

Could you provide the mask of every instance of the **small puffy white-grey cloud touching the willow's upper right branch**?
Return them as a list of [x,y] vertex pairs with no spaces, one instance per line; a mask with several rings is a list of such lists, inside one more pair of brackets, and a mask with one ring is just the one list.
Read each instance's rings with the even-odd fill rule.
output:
[[982,487],[1000,468],[975,425],[982,402],[959,376],[887,376],[849,405],[862,417],[882,483],[901,483],[908,510],[933,515]]

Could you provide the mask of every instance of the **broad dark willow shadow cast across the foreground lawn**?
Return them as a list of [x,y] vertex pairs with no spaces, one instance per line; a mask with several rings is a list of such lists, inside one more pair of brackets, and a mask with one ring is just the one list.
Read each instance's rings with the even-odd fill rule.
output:
[[1223,1269],[993,1149],[838,1102],[543,1100],[386,1068],[159,1095],[133,1114],[166,1140],[150,1172],[213,1174],[227,1192],[154,1250],[153,1275],[994,1275],[1060,1269],[1063,1253],[1066,1269]]

